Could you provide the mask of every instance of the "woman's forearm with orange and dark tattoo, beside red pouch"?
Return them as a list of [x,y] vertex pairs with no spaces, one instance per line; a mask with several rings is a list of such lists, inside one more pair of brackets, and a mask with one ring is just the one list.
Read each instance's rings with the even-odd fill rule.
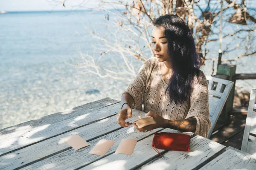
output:
[[168,120],[167,127],[183,132],[195,132],[196,119],[192,117],[183,120]]

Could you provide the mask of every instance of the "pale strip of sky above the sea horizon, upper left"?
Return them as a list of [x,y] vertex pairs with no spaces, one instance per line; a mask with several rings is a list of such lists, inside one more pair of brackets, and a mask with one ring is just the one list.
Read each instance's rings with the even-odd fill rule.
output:
[[[95,0],[66,0],[65,8],[63,0],[0,0],[0,11],[58,11],[77,8],[81,2],[85,8],[95,7],[98,3]],[[56,3],[54,3],[56,2]],[[88,3],[87,3],[88,2]],[[84,9],[84,8],[80,8]]]

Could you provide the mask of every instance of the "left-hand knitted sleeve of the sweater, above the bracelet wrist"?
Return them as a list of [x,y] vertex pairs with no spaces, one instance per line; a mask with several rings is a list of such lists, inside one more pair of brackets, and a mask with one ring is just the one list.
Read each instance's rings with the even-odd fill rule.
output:
[[[132,106],[134,108],[142,111],[143,104],[143,93],[145,90],[145,84],[148,77],[148,68],[149,68],[150,59],[147,59],[145,63],[141,66],[137,76],[134,81],[123,91],[122,95],[128,93],[134,99]],[[122,96],[121,95],[121,96]]]

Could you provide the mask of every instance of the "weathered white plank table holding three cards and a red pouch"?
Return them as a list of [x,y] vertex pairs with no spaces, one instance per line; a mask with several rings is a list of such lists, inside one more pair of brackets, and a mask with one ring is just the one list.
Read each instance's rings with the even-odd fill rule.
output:
[[[225,152],[224,145],[201,136],[192,136],[190,152],[159,150],[151,147],[155,129],[146,133],[132,125],[120,127],[116,113],[119,101],[106,98],[38,120],[0,130],[0,169],[199,169]],[[133,109],[134,121],[144,112]],[[90,146],[74,150],[65,140],[79,134]],[[122,139],[137,139],[132,155],[115,154]],[[100,139],[115,141],[105,156],[89,154]],[[217,157],[218,158],[218,157]]]

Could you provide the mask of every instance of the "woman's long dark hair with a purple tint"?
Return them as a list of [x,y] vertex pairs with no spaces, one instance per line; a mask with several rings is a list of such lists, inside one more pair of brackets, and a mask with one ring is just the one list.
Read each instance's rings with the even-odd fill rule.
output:
[[174,14],[166,14],[153,21],[154,26],[163,26],[168,42],[168,55],[171,60],[173,75],[166,88],[170,100],[182,104],[192,93],[192,82],[199,76],[200,65],[195,48],[195,41],[189,26]]

